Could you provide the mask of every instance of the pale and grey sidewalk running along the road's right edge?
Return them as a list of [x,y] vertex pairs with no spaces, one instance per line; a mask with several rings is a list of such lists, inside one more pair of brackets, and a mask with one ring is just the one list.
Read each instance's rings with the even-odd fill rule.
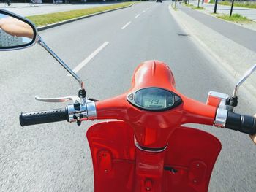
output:
[[[244,72],[256,64],[256,31],[182,4],[177,4],[177,7],[177,11],[170,7],[173,18],[200,50],[214,61],[216,68],[223,72],[223,80],[230,80],[235,85]],[[252,74],[241,89],[255,101],[256,74]]]

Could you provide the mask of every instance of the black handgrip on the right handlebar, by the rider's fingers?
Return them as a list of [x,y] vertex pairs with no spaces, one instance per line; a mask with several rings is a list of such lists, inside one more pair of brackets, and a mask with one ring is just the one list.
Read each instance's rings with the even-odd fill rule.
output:
[[256,134],[256,119],[249,115],[227,112],[225,128],[230,128],[245,134]]

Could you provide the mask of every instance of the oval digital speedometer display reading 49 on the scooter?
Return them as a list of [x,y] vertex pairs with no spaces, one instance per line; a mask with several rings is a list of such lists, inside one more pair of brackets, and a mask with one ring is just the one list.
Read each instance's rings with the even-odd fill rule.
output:
[[168,110],[181,103],[181,98],[162,88],[143,88],[127,96],[128,101],[145,110]]

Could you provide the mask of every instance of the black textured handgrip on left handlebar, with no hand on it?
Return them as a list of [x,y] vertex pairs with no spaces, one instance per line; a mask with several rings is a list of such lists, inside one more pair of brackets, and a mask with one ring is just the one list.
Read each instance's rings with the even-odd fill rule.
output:
[[68,120],[67,107],[65,109],[20,113],[20,126],[52,123],[61,120]]

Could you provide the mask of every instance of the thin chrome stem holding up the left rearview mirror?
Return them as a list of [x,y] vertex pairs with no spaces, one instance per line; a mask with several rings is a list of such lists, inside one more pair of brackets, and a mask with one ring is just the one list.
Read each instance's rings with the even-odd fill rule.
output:
[[53,58],[55,58],[56,61],[58,61],[59,64],[61,64],[61,66],[63,66],[64,69],[66,69],[67,72],[69,72],[69,74],[71,74],[71,75],[75,78],[75,80],[77,80],[77,81],[79,82],[80,91],[83,91],[83,90],[84,90],[84,85],[83,85],[83,81],[80,79],[80,77],[78,77],[78,75],[75,74],[75,72],[73,72],[72,69],[70,69],[69,66],[67,66],[67,64],[65,64],[64,61],[62,61],[61,58],[59,58],[59,57],[53,52],[53,50],[51,50],[51,49],[45,44],[45,42],[43,42],[42,38],[41,38],[39,35],[37,35],[37,38],[38,38],[38,41],[37,41],[37,42],[39,43],[39,45],[41,45],[42,47],[44,47],[45,50],[47,50],[48,53],[50,53],[50,55],[52,55]]

